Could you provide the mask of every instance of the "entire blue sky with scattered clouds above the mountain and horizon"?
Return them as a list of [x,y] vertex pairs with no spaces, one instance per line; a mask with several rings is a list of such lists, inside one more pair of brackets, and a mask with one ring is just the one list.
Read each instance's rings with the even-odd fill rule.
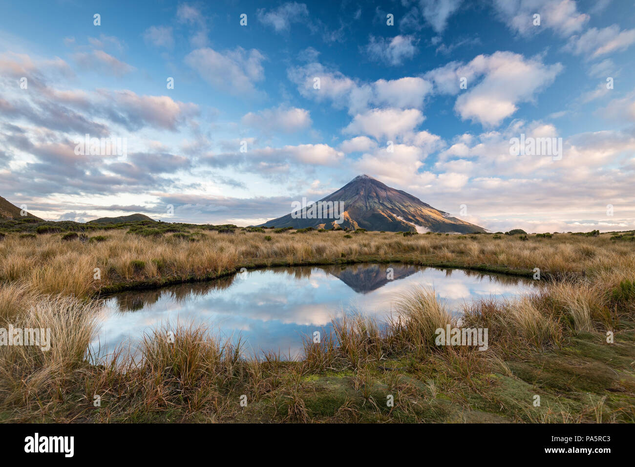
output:
[[[632,229],[634,6],[4,2],[0,196],[249,225],[368,173],[492,231]],[[76,154],[86,133],[127,154]],[[562,158],[510,154],[521,133]]]

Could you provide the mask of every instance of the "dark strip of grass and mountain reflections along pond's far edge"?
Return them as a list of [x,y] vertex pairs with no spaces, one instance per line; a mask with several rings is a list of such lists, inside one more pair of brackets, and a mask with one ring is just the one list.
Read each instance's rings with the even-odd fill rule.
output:
[[[392,267],[392,279],[388,279],[387,269]],[[274,274],[289,274],[296,280],[309,279],[316,269],[321,269],[326,274],[337,277],[348,287],[358,294],[368,294],[377,288],[383,287],[391,280],[404,279],[418,271],[427,269],[424,266],[413,264],[346,264],[335,266],[294,266],[294,267],[272,267],[267,271]],[[436,269],[436,268],[431,268]],[[453,269],[445,269],[446,276],[451,276]],[[481,273],[479,271],[469,271],[462,269],[466,276],[477,276],[479,281],[488,280],[502,283],[504,285],[517,285],[519,281],[526,281],[518,277],[505,276],[501,274]],[[258,272],[243,273],[257,274]],[[192,297],[203,297],[215,290],[225,290],[230,288],[234,281],[243,278],[240,274],[234,274],[225,278],[206,282],[192,282],[179,285],[171,285],[151,290],[132,290],[105,297],[112,298],[117,302],[117,308],[121,311],[137,311],[147,305],[154,304],[163,297],[170,297],[177,303],[185,302]],[[531,282],[531,281],[529,281]]]

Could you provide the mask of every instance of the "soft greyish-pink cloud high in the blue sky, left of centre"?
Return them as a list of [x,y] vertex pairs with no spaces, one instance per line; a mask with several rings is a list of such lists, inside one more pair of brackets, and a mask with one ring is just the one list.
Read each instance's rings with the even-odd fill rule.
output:
[[242,47],[224,53],[211,48],[191,51],[185,63],[195,69],[201,78],[220,90],[233,95],[255,95],[255,82],[264,79],[264,55],[257,49]]

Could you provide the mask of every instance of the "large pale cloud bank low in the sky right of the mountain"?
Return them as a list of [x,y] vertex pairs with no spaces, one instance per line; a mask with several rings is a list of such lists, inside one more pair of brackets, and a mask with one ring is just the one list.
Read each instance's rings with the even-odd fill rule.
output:
[[[521,132],[528,137],[559,134],[549,123],[514,121],[500,132],[462,135],[442,152],[432,172],[408,172],[401,183],[448,212],[457,213],[458,205],[466,203],[474,222],[492,231],[523,226],[533,232],[607,231],[631,224],[633,135],[617,131],[573,135],[564,140],[563,159],[553,161],[549,156],[511,156],[509,138]],[[515,196],[500,196],[508,191]],[[607,204],[620,208],[616,207],[614,218],[603,222]],[[540,212],[540,220],[528,220],[526,213],[535,212]]]

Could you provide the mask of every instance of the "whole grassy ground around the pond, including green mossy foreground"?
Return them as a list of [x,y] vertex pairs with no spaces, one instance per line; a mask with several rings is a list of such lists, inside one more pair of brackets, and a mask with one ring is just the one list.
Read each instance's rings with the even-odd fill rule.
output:
[[[48,352],[0,346],[3,421],[635,421],[635,248],[624,238],[21,235],[0,241],[0,320],[51,328],[53,344]],[[190,327],[170,328],[174,342],[167,328],[155,330],[138,361],[123,351],[100,365],[84,359],[98,314],[91,297],[109,288],[368,259],[518,274],[538,267],[551,282],[517,301],[467,304],[460,323],[429,290],[413,290],[395,297],[398,319],[340,320],[335,335],[305,342],[300,361],[241,358],[230,342]],[[436,345],[434,330],[446,324],[488,328],[489,348]]]

